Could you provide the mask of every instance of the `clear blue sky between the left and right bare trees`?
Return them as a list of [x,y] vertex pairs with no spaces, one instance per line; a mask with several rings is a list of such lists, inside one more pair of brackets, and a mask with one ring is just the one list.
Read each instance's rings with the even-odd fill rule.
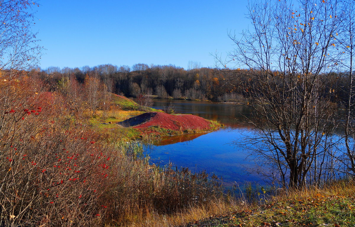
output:
[[212,67],[210,53],[233,49],[227,36],[250,24],[246,0],[41,0],[33,30],[46,48],[40,67],[174,64]]

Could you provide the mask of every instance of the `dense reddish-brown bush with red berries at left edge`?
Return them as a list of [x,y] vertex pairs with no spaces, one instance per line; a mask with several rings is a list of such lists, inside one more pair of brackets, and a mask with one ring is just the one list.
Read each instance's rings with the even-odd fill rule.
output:
[[110,156],[60,99],[46,100],[33,82],[23,77],[0,85],[2,224],[95,223]]

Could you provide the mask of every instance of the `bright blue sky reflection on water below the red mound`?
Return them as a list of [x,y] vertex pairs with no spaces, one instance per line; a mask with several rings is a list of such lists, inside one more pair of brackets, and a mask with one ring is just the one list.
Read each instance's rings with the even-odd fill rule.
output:
[[236,138],[247,136],[248,133],[222,128],[197,135],[192,140],[146,146],[144,149],[155,163],[160,162],[164,165],[172,162],[178,168],[188,167],[193,172],[206,170],[208,173],[222,176],[227,185],[243,184],[245,181],[264,183],[260,176],[248,173],[248,169],[253,168],[254,163],[245,159],[247,151],[230,144]]

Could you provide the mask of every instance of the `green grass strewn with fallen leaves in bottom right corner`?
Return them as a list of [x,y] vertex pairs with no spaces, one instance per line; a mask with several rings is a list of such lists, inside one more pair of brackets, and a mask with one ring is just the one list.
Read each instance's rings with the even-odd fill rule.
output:
[[204,227],[353,227],[355,226],[355,196],[316,194],[294,196],[278,202],[253,205],[250,210],[230,212],[223,216],[189,223]]

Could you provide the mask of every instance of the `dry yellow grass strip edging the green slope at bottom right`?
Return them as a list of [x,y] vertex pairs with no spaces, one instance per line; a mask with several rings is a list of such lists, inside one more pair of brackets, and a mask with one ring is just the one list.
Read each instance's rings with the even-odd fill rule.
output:
[[[308,188],[304,190],[297,191],[280,191],[278,196],[269,197],[265,204],[248,204],[245,198],[240,199],[230,199],[229,201],[222,199],[215,199],[208,202],[205,205],[201,205],[199,207],[189,207],[184,210],[184,212],[174,213],[171,215],[162,215],[155,212],[142,212],[138,215],[128,217],[129,220],[124,226],[127,227],[187,227],[187,226],[239,226],[240,220],[248,220],[243,226],[259,226],[260,223],[267,223],[268,217],[272,216],[272,218],[279,218],[278,221],[282,222],[285,226],[308,226],[307,221],[320,221],[323,222],[323,216],[329,216],[328,221],[335,226],[338,223],[337,216],[332,217],[326,212],[317,213],[316,208],[314,208],[314,204],[319,201],[328,201],[328,209],[336,209],[337,202],[344,203],[345,205],[351,207],[351,199],[354,197],[355,187],[353,186],[353,181],[337,181],[333,184],[326,185],[322,188]],[[348,198],[348,199],[346,199]],[[314,201],[313,201],[314,200]],[[339,200],[339,201],[338,201]],[[341,201],[340,201],[341,200]],[[344,200],[344,201],[343,201]],[[348,201],[349,200],[349,201]],[[290,208],[295,202],[301,201],[302,204],[310,204],[310,210],[307,210],[307,207],[304,206],[302,210],[304,213],[297,213],[295,210],[293,215],[295,216],[285,216],[286,219],[294,220],[294,222],[288,223],[287,220],[283,220],[284,213],[288,212],[282,210],[283,206]],[[335,205],[334,205],[334,204]],[[350,205],[349,205],[350,204]],[[316,204],[316,206],[320,206]],[[333,207],[334,206],[334,207]],[[269,208],[271,207],[271,208]],[[309,208],[308,207],[308,208]],[[283,212],[281,212],[281,210]],[[345,209],[346,210],[346,209]],[[250,213],[245,213],[246,211],[250,211]],[[338,211],[337,211],[338,212]],[[350,211],[349,211],[350,212]],[[306,214],[307,213],[307,214]],[[243,214],[241,216],[244,219],[238,219],[237,216]],[[291,215],[291,213],[290,213]],[[307,220],[304,220],[307,216]],[[320,215],[320,216],[319,216]],[[341,212],[339,212],[341,215]],[[348,216],[348,214],[346,214]],[[235,217],[234,217],[235,216]],[[240,218],[241,218],[240,216]],[[301,219],[297,219],[300,217]],[[319,217],[318,217],[319,216]],[[353,223],[351,220],[346,220],[347,216],[341,217],[340,219],[344,219],[342,222],[342,226],[349,226],[349,223]],[[308,220],[309,219],[309,220]],[[333,220],[334,219],[334,220]],[[200,220],[200,221],[198,221]],[[298,220],[298,221],[297,221]],[[194,223],[195,222],[195,223]],[[243,222],[243,221],[242,221]],[[305,223],[303,223],[305,222]],[[334,223],[333,223],[334,222]],[[313,222],[314,223],[314,222]],[[333,226],[334,226],[333,225]]]

